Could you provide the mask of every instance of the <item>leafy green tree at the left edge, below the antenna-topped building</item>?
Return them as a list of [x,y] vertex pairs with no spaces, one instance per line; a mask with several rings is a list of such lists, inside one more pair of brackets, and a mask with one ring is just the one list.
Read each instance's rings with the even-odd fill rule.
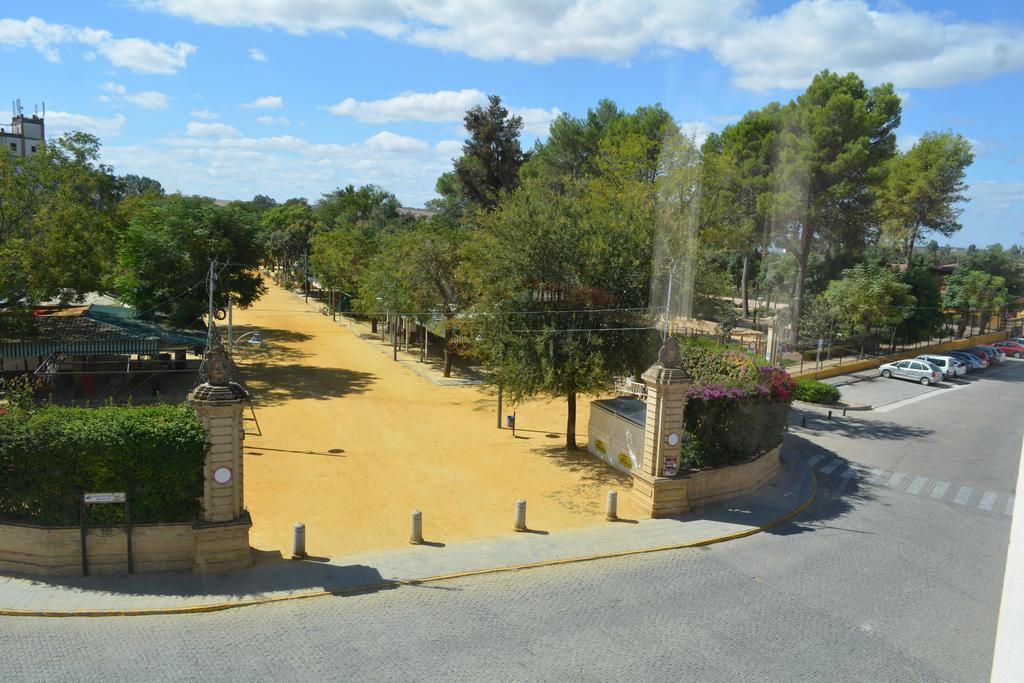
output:
[[0,154],[0,300],[100,290],[120,229],[118,181],[99,140],[67,133],[27,158]]

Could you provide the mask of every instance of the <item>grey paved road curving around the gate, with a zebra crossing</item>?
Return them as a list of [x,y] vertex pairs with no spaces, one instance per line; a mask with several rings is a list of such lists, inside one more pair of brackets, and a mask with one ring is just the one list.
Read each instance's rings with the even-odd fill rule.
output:
[[810,416],[787,449],[815,503],[748,539],[211,614],[0,618],[0,678],[987,680],[1022,386],[1008,362]]

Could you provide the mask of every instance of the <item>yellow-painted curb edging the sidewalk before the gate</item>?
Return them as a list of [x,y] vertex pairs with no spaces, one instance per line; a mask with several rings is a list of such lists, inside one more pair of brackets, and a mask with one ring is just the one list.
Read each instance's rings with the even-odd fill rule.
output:
[[728,533],[725,536],[712,537],[710,539],[701,539],[699,541],[689,541],[686,543],[673,544],[669,546],[655,546],[653,548],[640,548],[637,550],[622,550],[613,553],[602,553],[598,555],[586,555],[581,557],[567,557],[558,560],[542,560],[540,562],[526,562],[523,564],[510,564],[506,566],[489,567],[486,569],[475,569],[473,571],[457,571],[453,573],[437,574],[433,577],[425,577],[423,579],[408,579],[408,580],[396,580],[396,581],[386,581],[377,584],[368,584],[366,586],[353,586],[351,588],[340,588],[332,591],[310,591],[307,593],[298,593],[295,595],[281,595],[281,596],[270,596],[265,598],[253,598],[251,600],[229,600],[225,602],[216,602],[205,605],[189,605],[184,607],[153,607],[153,608],[142,608],[142,609],[78,609],[78,610],[29,610],[29,609],[5,609],[0,608],[0,616],[41,616],[41,617],[60,617],[60,616],[150,616],[150,615],[169,615],[169,614],[199,614],[205,612],[215,612],[223,611],[225,609],[232,609],[236,607],[250,607],[253,605],[265,605],[274,602],[286,602],[289,600],[305,600],[308,598],[319,598],[327,596],[340,596],[340,595],[357,595],[360,593],[372,593],[374,591],[388,590],[393,588],[400,588],[402,586],[421,586],[423,584],[431,584],[441,581],[451,581],[454,579],[464,579],[467,577],[478,577],[482,574],[490,573],[501,573],[504,571],[519,571],[523,569],[535,569],[539,567],[547,566],[558,566],[561,564],[578,564],[581,562],[592,562],[594,560],[611,559],[615,557],[629,557],[631,555],[646,555],[650,553],[659,553],[667,550],[681,550],[683,548],[699,548],[701,546],[711,546],[718,543],[725,543],[727,541],[735,541],[738,539],[743,539],[749,536],[754,536],[755,533],[760,533],[762,531],[767,531],[768,529],[774,528],[779,524],[784,524],[790,521],[801,512],[810,507],[811,503],[818,494],[818,479],[814,475],[814,469],[808,467],[811,474],[811,493],[803,503],[798,505],[796,508],[785,513],[781,517],[768,522],[767,524],[762,524],[761,526],[755,526],[753,528],[746,529],[745,531],[737,531],[736,533]]

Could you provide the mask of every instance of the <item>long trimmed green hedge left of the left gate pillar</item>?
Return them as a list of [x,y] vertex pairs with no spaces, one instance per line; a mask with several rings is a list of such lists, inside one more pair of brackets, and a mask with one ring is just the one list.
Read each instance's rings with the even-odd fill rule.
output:
[[[132,521],[200,518],[206,432],[190,408],[0,411],[0,515],[78,524],[83,492],[128,493]],[[90,521],[121,506],[90,506]]]

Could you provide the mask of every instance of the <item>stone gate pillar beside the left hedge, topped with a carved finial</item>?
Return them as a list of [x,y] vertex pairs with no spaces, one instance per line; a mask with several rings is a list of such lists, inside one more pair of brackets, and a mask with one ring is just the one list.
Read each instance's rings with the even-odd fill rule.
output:
[[227,359],[223,349],[207,353],[207,381],[188,394],[206,428],[209,449],[203,466],[203,519],[226,522],[242,517],[243,496],[242,409],[248,398],[245,389],[227,381]]

